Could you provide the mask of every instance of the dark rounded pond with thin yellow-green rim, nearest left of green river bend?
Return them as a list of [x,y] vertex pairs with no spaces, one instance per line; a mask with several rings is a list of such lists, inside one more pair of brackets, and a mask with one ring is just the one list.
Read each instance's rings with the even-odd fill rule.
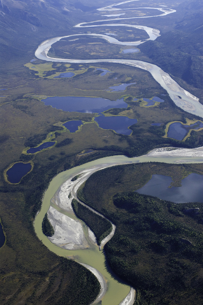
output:
[[18,162],[15,163],[11,168],[6,172],[8,181],[10,183],[18,183],[32,168],[31,163]]

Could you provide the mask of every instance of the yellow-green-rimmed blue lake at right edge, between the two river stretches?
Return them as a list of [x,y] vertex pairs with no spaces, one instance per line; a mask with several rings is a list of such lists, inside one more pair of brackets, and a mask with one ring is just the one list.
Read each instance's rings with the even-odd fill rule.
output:
[[180,122],[174,122],[169,126],[167,137],[173,138],[176,140],[183,140],[185,136],[189,133],[190,129],[200,129],[203,128],[203,123],[197,121],[191,125],[183,125]]

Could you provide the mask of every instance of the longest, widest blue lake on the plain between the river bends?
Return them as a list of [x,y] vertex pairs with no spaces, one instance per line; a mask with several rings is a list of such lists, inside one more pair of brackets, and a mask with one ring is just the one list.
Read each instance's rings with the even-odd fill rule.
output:
[[110,108],[127,108],[123,99],[111,101],[101,97],[84,96],[54,96],[42,100],[45,105],[64,111],[77,111],[86,113],[100,113]]

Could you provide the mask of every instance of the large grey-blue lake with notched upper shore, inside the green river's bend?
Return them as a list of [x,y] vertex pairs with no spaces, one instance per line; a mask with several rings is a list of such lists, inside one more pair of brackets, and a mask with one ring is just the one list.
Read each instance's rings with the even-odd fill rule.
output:
[[190,174],[181,182],[181,187],[169,188],[172,178],[163,175],[152,175],[152,178],[136,192],[159,197],[175,203],[203,202],[203,175]]

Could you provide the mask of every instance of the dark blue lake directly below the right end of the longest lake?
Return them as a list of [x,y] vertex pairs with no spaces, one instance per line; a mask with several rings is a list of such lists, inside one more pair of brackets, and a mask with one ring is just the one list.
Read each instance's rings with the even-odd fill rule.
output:
[[117,133],[130,135],[132,130],[129,126],[136,124],[137,119],[129,119],[127,116],[97,116],[94,119],[99,127],[103,129],[112,129]]

